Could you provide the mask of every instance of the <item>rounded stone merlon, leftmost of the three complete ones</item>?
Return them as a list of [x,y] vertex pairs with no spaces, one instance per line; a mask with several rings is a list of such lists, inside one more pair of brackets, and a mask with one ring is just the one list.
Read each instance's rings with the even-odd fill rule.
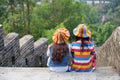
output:
[[17,33],[9,33],[4,39],[4,54],[2,56],[2,66],[12,67],[14,65],[12,63],[12,57],[14,57],[15,61],[20,56],[20,48],[19,48],[19,35]]

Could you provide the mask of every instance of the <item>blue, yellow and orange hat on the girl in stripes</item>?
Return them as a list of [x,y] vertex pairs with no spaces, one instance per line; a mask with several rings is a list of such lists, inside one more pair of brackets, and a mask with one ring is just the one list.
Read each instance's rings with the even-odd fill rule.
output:
[[79,24],[75,29],[73,29],[73,34],[81,38],[91,37],[91,32],[85,24]]

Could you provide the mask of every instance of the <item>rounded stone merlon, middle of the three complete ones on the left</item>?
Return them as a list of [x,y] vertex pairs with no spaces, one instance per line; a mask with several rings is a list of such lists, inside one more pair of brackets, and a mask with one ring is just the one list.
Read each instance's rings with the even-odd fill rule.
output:
[[[24,64],[22,66],[24,67],[29,67],[29,66],[33,66],[31,63],[33,54],[34,54],[34,39],[33,36],[31,35],[25,35],[24,37],[22,37],[19,41],[20,43],[20,54],[21,54],[21,59],[24,62]],[[28,58],[29,56],[31,56],[31,58]],[[20,61],[18,61],[20,62]],[[32,61],[32,63],[34,63]]]

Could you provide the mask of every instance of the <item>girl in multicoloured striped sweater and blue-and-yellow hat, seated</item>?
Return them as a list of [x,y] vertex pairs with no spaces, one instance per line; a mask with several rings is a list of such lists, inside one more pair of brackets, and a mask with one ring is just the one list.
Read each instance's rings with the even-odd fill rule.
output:
[[71,44],[73,72],[92,72],[96,68],[96,53],[91,42],[91,32],[85,24],[78,25],[74,30],[75,42]]

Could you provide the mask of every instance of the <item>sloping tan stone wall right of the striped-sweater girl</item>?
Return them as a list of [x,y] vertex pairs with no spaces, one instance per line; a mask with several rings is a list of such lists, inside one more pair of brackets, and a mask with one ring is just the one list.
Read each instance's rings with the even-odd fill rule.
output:
[[120,27],[97,51],[97,66],[114,66],[120,72]]

